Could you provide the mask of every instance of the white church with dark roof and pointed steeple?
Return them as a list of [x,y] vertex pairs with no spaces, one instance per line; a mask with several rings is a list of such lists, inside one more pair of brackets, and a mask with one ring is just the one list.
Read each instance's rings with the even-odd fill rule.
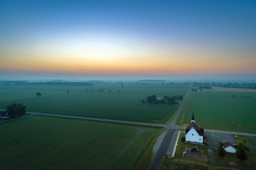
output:
[[187,126],[185,130],[186,142],[203,144],[204,140],[204,129],[199,128],[195,123],[194,112],[192,115],[191,123]]

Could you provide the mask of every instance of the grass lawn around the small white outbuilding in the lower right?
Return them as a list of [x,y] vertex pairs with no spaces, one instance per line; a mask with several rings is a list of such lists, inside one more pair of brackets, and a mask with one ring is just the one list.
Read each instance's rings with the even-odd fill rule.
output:
[[244,167],[250,167],[250,168],[256,168],[256,151],[255,150],[250,150],[247,155],[247,160],[244,160],[243,162],[239,160],[235,154],[230,154],[227,153],[225,157],[221,159],[217,155],[217,151],[213,151],[214,158],[219,162],[223,164],[229,164],[229,162],[234,162],[238,166],[244,166]]

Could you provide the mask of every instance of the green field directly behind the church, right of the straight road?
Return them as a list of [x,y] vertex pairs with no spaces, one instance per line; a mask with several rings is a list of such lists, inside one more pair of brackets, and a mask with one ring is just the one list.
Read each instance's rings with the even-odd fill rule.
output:
[[255,92],[190,92],[180,123],[190,123],[194,112],[201,128],[256,133],[255,106]]

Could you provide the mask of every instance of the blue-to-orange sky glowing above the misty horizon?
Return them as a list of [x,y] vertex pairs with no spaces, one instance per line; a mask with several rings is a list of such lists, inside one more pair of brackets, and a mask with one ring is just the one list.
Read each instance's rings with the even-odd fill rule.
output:
[[0,1],[0,80],[256,80],[256,1]]

